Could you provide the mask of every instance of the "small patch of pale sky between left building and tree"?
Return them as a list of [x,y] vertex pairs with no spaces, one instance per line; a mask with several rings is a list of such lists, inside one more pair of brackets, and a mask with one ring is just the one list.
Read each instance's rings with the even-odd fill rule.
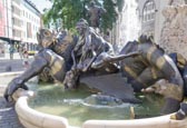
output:
[[37,9],[42,13],[45,8],[50,8],[51,7],[51,2],[49,2],[48,0],[30,0],[32,3],[36,4]]

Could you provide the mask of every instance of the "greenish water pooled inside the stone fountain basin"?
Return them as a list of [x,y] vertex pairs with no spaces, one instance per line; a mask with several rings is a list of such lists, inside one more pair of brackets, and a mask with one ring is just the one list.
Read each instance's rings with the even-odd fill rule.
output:
[[[90,92],[86,86],[80,86],[77,90],[65,91],[61,86],[31,85],[37,96],[30,100],[29,106],[33,109],[66,117],[71,126],[81,126],[89,119],[119,120],[129,119],[129,109],[135,108],[138,117],[158,116],[161,100],[159,97],[144,97],[144,104],[132,105],[120,100],[105,100],[106,96],[99,97]],[[33,88],[36,87],[36,88]],[[31,88],[30,88],[31,89]],[[95,98],[96,97],[96,98]]]

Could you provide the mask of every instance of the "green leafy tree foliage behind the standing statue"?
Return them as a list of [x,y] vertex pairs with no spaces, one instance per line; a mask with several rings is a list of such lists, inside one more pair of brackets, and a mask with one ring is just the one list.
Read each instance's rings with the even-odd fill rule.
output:
[[[52,8],[46,11],[43,14],[43,22],[48,23],[56,21],[57,19],[62,19],[63,28],[71,29],[75,28],[76,22],[80,18],[87,18],[87,8],[91,0],[53,0]],[[95,0],[97,4],[104,6],[107,13],[102,16],[101,29],[106,31],[111,29],[114,22],[117,20],[117,11],[124,3],[124,0]]]

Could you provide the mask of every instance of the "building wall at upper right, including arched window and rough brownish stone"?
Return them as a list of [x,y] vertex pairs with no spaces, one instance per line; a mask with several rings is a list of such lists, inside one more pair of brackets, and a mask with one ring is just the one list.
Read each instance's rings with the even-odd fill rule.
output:
[[[167,53],[187,58],[187,0],[138,0],[141,33],[152,35]],[[183,49],[181,49],[183,48]]]

